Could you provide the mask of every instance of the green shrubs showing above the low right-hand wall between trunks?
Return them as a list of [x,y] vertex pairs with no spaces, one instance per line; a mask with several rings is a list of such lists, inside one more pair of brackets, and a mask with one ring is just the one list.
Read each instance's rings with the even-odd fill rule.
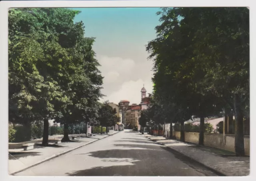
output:
[[[174,131],[180,131],[180,123],[174,124]],[[184,131],[186,132],[200,132],[200,125],[194,125],[192,123],[184,124]],[[204,123],[204,133],[213,133],[213,125],[210,123]]]

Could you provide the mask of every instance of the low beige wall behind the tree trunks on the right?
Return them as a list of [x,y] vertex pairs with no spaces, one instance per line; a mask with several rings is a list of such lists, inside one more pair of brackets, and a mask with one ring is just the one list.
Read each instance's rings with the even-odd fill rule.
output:
[[[174,131],[173,135],[180,139],[180,131]],[[185,141],[198,144],[199,133],[185,132]],[[235,135],[204,133],[204,145],[235,152]],[[244,136],[244,150],[250,155],[250,136],[247,135]]]

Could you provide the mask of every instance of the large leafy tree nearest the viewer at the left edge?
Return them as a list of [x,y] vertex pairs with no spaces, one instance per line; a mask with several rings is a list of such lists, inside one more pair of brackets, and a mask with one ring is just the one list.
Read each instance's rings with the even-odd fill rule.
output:
[[40,72],[40,62],[47,62],[44,44],[50,34],[44,33],[28,8],[9,11],[9,29],[9,119],[22,124],[44,120],[43,145],[47,145],[48,119],[55,115],[53,101],[62,97],[57,82]]

